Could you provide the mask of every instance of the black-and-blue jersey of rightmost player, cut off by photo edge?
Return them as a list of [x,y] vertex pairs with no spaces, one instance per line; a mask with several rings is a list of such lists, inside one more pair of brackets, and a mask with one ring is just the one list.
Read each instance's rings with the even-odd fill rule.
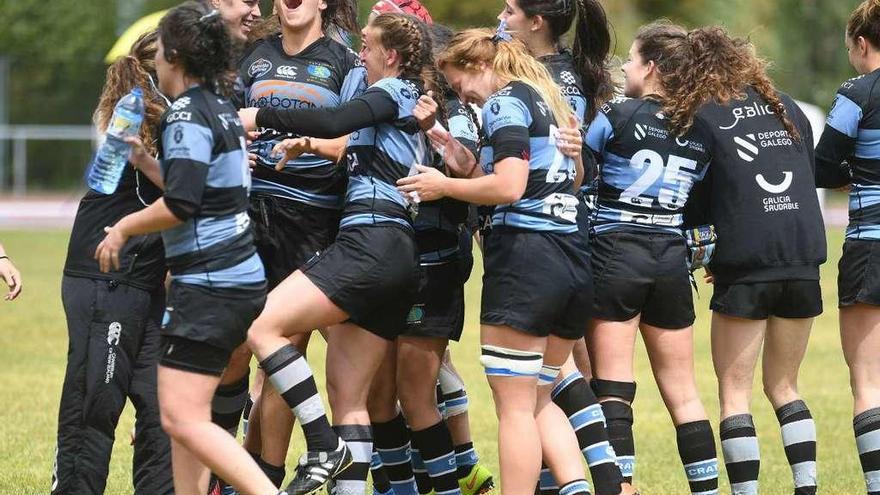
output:
[[[880,69],[837,90],[816,147],[819,187],[852,184],[848,239],[880,240]],[[841,167],[846,162],[849,171]]]

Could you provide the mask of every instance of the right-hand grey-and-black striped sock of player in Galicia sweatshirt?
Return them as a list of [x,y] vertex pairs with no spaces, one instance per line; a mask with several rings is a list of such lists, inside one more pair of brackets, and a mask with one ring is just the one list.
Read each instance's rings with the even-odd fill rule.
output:
[[776,410],[785,457],[791,466],[795,495],[816,493],[816,423],[802,400]]

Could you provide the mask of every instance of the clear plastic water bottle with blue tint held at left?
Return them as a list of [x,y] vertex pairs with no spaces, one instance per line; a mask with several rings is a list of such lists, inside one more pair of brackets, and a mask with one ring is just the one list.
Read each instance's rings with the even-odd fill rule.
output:
[[87,179],[89,188],[102,194],[116,192],[131,150],[125,138],[137,136],[143,120],[144,94],[140,88],[134,88],[113,109],[104,142],[98,147],[90,165]]

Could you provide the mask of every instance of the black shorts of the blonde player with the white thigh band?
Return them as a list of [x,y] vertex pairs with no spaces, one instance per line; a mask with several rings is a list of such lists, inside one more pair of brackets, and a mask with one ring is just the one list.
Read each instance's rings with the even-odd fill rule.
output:
[[493,229],[483,239],[480,322],[564,339],[584,336],[593,280],[585,233]]

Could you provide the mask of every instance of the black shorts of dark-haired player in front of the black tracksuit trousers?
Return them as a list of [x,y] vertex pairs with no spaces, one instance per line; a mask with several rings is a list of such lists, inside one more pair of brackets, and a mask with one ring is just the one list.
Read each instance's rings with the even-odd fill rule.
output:
[[220,375],[265,303],[265,286],[216,288],[172,282],[162,322],[161,364]]

